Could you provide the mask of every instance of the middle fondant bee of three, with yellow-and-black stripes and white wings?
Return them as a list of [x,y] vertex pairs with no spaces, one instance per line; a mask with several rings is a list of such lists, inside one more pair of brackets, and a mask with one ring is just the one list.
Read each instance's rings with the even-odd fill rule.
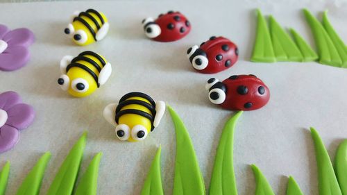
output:
[[64,56],[60,61],[62,76],[58,84],[72,96],[83,97],[92,94],[106,83],[112,73],[109,62],[97,53],[84,51],[76,58]]

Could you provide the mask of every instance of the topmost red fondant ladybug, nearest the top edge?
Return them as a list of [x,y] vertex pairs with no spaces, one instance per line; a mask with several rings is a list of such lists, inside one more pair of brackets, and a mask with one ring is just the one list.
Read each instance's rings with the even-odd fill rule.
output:
[[142,20],[144,33],[158,42],[173,42],[185,37],[192,28],[187,18],[180,12],[169,11],[158,19],[147,17]]

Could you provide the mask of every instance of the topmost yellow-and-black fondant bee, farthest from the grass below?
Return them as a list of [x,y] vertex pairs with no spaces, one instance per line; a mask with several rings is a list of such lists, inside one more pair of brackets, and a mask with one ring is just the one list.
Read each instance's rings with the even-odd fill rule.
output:
[[103,12],[93,9],[88,9],[85,12],[76,11],[71,18],[72,21],[67,25],[64,33],[80,46],[102,40],[110,28],[108,19]]

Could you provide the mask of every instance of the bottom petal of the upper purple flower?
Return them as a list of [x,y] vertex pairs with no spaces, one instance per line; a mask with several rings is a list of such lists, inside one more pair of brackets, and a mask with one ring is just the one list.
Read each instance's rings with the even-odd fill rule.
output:
[[30,59],[30,53],[25,46],[10,46],[0,53],[0,70],[12,71],[24,67]]

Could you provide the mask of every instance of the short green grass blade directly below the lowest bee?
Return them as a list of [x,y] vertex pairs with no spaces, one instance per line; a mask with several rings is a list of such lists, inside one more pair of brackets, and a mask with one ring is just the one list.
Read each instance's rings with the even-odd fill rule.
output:
[[160,153],[162,148],[159,147],[153,159],[149,174],[144,181],[144,186],[141,190],[141,195],[164,195],[162,189],[162,176],[160,173]]

